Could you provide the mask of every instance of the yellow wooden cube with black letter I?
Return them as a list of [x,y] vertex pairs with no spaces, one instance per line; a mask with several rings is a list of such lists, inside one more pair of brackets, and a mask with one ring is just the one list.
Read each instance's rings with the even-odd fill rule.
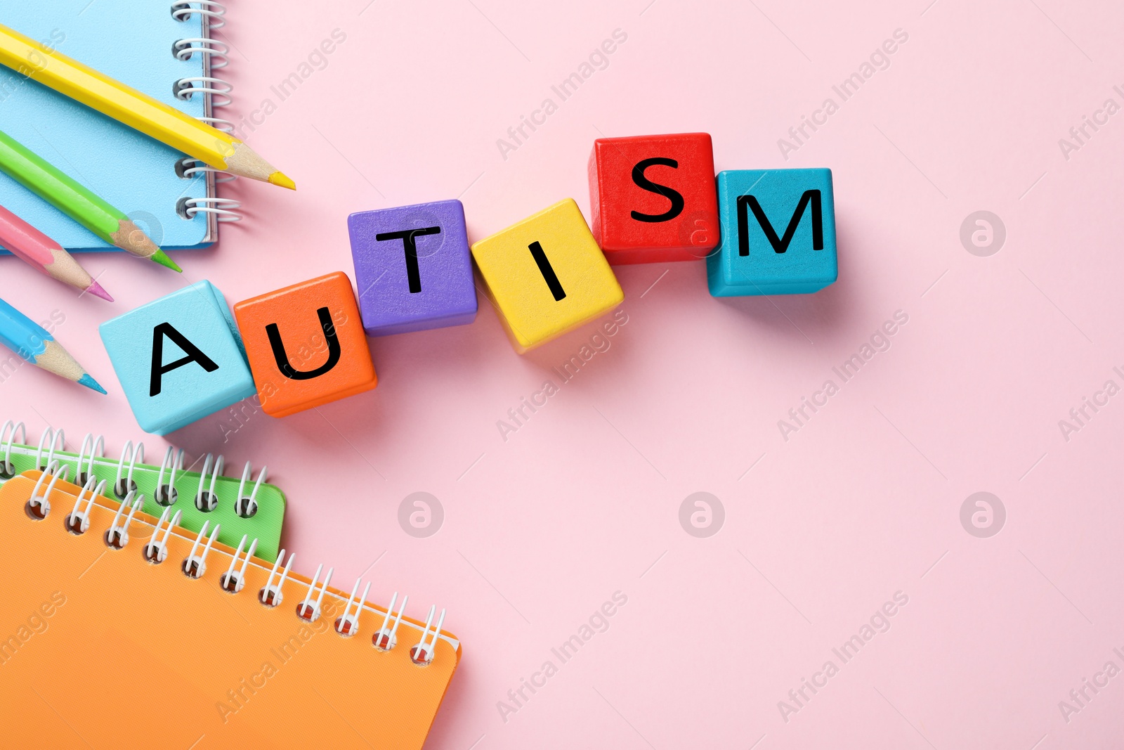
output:
[[472,257],[520,354],[625,298],[572,198],[473,243]]

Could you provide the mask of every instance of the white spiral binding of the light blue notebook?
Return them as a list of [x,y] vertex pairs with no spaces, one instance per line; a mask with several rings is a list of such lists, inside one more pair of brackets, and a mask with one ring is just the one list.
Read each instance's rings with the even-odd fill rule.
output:
[[[176,0],[172,3],[172,17],[187,21],[193,15],[202,20],[202,35],[176,39],[172,45],[172,54],[176,60],[191,60],[194,55],[202,57],[202,75],[182,78],[172,84],[176,99],[188,101],[196,94],[203,97],[203,116],[198,118],[225,133],[234,130],[234,123],[216,117],[215,109],[229,107],[234,102],[234,84],[215,75],[230,64],[230,47],[211,36],[211,31],[226,26],[226,6],[215,0]],[[232,198],[219,198],[217,186],[230,182],[237,178],[228,172],[208,166],[191,159],[181,159],[175,164],[175,173],[181,178],[203,174],[207,179],[207,196],[205,198],[181,198],[176,213],[185,219],[203,214],[208,223],[225,224],[241,222],[242,202]]]

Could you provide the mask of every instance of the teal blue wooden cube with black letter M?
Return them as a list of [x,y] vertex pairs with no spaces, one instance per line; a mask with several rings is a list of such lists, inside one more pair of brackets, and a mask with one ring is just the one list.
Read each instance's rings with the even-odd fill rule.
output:
[[839,277],[832,171],[718,173],[722,241],[707,256],[714,297],[807,295]]

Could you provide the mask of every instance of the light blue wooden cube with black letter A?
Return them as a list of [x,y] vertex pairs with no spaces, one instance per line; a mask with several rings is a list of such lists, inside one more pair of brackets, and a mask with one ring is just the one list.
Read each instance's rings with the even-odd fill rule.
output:
[[257,392],[242,337],[210,281],[99,326],[133,414],[166,435]]

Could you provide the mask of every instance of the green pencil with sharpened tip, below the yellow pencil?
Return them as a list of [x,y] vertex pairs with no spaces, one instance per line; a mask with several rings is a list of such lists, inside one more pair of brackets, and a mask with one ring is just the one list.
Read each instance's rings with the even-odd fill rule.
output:
[[38,154],[0,130],[0,170],[25,188],[125,252],[165,265],[180,266],[123,211],[114,208]]

